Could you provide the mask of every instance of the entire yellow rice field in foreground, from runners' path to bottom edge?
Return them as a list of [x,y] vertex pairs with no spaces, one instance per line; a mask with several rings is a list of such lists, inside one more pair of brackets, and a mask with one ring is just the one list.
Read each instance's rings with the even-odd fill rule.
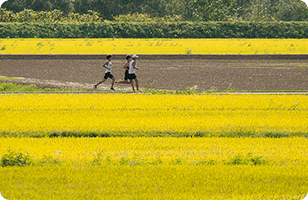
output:
[[[296,136],[307,134],[307,97],[0,95],[0,194],[5,199],[303,199],[308,140]],[[133,137],[53,137],[61,132]],[[270,132],[289,138],[262,137]],[[258,138],[183,137],[189,134]],[[176,137],[151,137],[170,135]],[[16,166],[24,158],[24,166]]]

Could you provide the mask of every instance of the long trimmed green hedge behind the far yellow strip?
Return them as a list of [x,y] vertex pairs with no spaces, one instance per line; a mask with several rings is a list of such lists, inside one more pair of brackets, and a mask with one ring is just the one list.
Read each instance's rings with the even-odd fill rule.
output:
[[308,38],[308,22],[0,23],[0,38]]

